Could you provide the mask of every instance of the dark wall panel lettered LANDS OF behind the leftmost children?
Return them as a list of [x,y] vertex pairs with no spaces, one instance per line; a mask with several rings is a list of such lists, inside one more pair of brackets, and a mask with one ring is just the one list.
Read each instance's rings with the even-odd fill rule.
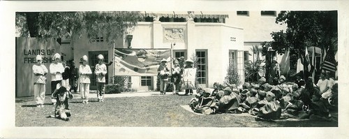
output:
[[[43,57],[43,65],[47,69],[52,63],[52,56],[61,53],[60,45],[55,39],[48,41],[38,41],[36,38],[16,38],[16,97],[34,96],[34,73],[33,65],[36,64],[36,55]],[[51,94],[51,75],[46,75],[46,92]]]

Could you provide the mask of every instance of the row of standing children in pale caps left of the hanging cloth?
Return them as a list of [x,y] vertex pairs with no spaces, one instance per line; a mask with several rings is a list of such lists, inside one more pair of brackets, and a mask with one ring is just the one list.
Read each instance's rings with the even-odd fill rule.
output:
[[[104,57],[102,54],[98,55],[98,64],[94,74],[96,74],[97,83],[97,98],[98,101],[104,101],[104,89],[105,89],[105,75],[107,74],[107,67],[104,64]],[[70,92],[70,89],[74,89],[76,92],[77,85],[75,85],[77,78],[80,82],[80,94],[83,99],[82,103],[87,104],[89,102],[89,84],[91,83],[90,75],[92,74],[91,68],[87,65],[87,56],[84,55],[81,60],[81,65],[77,69],[75,68],[75,62],[73,61],[72,67],[69,68],[66,65],[66,61],[61,61],[61,55],[56,53],[53,55],[52,59],[54,61],[50,64],[50,74],[51,74],[51,94],[58,89],[58,86],[65,87]],[[40,55],[36,56],[37,63],[32,67],[34,73],[34,99],[36,101],[37,107],[43,107],[45,101],[45,84],[46,76],[49,70],[43,65],[43,58]],[[71,81],[71,82],[69,82]],[[69,84],[70,83],[70,84]],[[70,88],[70,86],[73,86]],[[57,103],[57,98],[52,96],[52,104]]]

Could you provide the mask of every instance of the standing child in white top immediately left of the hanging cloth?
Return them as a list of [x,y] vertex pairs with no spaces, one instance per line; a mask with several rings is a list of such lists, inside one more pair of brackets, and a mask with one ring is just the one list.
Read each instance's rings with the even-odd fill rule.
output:
[[96,64],[96,68],[94,73],[96,74],[96,82],[97,82],[97,98],[99,102],[104,101],[104,89],[105,89],[105,74],[107,74],[107,66],[105,66],[103,62],[103,55],[98,55],[98,64]]

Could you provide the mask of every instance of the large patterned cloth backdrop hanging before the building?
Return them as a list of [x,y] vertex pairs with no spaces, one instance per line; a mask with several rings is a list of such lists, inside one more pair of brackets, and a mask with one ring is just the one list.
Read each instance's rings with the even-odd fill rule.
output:
[[[114,49],[114,75],[156,76],[161,59],[170,61],[170,49]],[[170,68],[170,62],[167,63]]]

